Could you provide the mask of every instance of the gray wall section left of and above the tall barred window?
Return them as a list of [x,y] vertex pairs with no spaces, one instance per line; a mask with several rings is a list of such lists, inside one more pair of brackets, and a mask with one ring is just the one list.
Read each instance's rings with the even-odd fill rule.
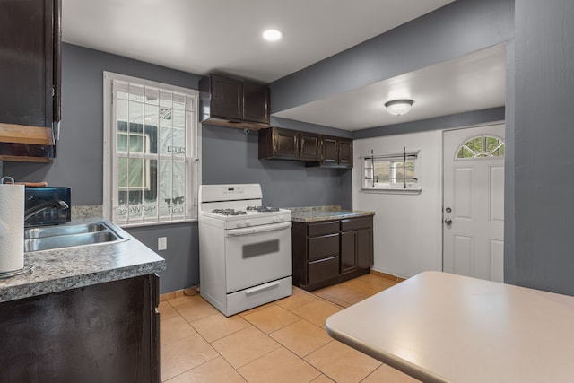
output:
[[198,76],[62,44],[62,123],[50,164],[5,162],[19,180],[71,187],[74,205],[100,205],[103,177],[103,71],[197,89]]

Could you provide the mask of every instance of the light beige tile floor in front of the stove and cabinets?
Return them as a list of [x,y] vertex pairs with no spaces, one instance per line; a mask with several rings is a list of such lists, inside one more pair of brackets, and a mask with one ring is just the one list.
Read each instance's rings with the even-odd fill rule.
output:
[[225,318],[199,294],[164,300],[161,381],[416,382],[336,342],[325,331],[331,314],[397,282],[378,274],[291,297]]

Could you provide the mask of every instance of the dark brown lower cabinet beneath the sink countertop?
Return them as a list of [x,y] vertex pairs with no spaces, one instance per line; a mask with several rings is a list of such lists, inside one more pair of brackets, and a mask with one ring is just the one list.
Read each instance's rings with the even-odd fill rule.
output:
[[155,274],[0,303],[0,382],[159,382]]

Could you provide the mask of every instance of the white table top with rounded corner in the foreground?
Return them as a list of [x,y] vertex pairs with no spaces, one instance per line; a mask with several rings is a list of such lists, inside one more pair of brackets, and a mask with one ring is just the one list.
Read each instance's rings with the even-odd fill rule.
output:
[[574,297],[552,292],[424,272],[326,330],[425,382],[574,382]]

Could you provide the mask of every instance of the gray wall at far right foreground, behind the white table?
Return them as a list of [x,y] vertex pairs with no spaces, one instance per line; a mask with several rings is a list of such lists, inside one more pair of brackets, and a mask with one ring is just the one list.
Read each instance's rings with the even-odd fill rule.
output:
[[[574,295],[574,2],[516,1],[516,283]],[[508,265],[508,264],[507,264]]]

